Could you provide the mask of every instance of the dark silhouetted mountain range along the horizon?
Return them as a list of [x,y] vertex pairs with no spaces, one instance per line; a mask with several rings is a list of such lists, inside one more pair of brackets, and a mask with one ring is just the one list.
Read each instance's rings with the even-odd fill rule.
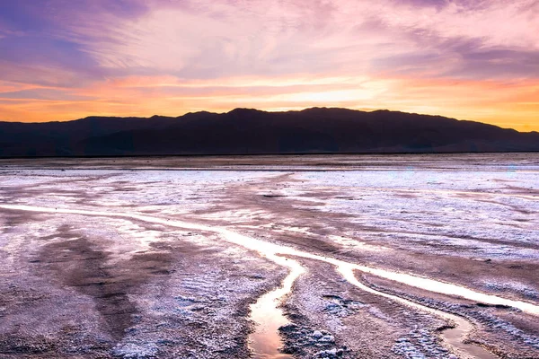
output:
[[539,133],[388,110],[313,108],[0,122],[0,156],[539,151]]

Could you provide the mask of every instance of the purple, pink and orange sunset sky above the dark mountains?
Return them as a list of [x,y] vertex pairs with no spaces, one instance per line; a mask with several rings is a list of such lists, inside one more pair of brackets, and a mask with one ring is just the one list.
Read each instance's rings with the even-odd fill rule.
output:
[[539,131],[539,0],[0,0],[0,120],[393,109]]

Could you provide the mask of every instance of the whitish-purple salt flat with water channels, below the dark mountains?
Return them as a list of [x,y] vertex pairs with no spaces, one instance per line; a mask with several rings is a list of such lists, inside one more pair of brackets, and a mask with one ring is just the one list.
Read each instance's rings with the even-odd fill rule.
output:
[[539,153],[0,160],[0,358],[539,358]]

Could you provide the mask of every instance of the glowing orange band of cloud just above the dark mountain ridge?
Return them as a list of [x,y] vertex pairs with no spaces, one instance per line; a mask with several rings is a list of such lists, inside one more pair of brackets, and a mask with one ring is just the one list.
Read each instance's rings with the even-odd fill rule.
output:
[[312,106],[393,109],[471,119],[519,130],[539,130],[539,81],[251,77],[181,81],[162,76],[127,77],[77,89],[92,100],[0,100],[0,117],[49,121],[103,116],[179,116],[195,110],[235,107],[266,110]]

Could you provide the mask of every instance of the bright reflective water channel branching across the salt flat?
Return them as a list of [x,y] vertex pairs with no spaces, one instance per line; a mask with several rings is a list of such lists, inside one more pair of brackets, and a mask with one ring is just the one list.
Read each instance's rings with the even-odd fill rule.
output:
[[[486,351],[480,346],[464,345],[462,343],[463,337],[466,335],[466,333],[468,333],[473,328],[472,323],[456,315],[449,314],[445,311],[438,311],[438,310],[423,306],[419,303],[405,300],[401,297],[398,297],[389,293],[378,292],[375,289],[370,288],[367,285],[363,285],[362,283],[360,283],[357,277],[355,276],[354,272],[358,270],[364,273],[372,274],[374,276],[380,276],[386,279],[391,279],[395,282],[399,282],[404,285],[411,285],[414,287],[425,289],[430,292],[457,295],[457,296],[461,296],[463,298],[476,301],[476,302],[508,305],[508,306],[515,307],[517,309],[520,309],[521,311],[525,311],[530,314],[539,315],[539,306],[532,303],[513,301],[506,298],[501,298],[496,295],[475,292],[463,286],[439,282],[434,279],[422,278],[420,276],[412,276],[412,275],[392,272],[392,271],[388,271],[388,270],[380,269],[380,268],[359,266],[357,264],[349,263],[340,259],[331,258],[331,257],[323,257],[323,256],[315,255],[312,253],[308,253],[302,250],[296,250],[294,248],[290,248],[287,246],[278,245],[276,243],[257,240],[255,238],[248,237],[243,234],[236,233],[222,227],[212,227],[212,226],[199,224],[199,223],[183,222],[183,221],[154,217],[150,215],[138,215],[138,214],[131,214],[131,213],[88,211],[88,210],[76,210],[76,209],[67,209],[67,208],[48,208],[48,207],[40,207],[40,206],[23,206],[23,205],[0,205],[0,208],[20,210],[20,211],[40,212],[40,213],[51,213],[51,214],[93,215],[93,216],[105,216],[105,217],[131,218],[131,219],[146,222],[146,223],[159,223],[159,224],[168,225],[172,227],[218,233],[225,239],[225,241],[229,241],[231,243],[240,245],[247,250],[257,251],[258,253],[261,254],[261,256],[265,258],[269,258],[270,260],[274,261],[275,263],[278,263],[281,266],[286,266],[290,268],[290,273],[285,279],[283,285],[273,292],[264,294],[264,296],[262,296],[261,299],[259,300],[261,305],[269,305],[270,303],[275,304],[276,301],[278,301],[284,295],[290,292],[296,278],[305,271],[305,269],[295,260],[290,259],[290,258],[283,258],[278,255],[288,255],[288,256],[296,256],[296,257],[301,257],[301,258],[310,258],[310,259],[330,263],[337,268],[340,274],[350,284],[357,286],[363,291],[380,295],[396,302],[402,302],[406,305],[418,308],[421,311],[427,311],[439,317],[446,318],[447,320],[455,321],[458,327],[455,329],[449,329],[449,330],[444,331],[442,333],[442,337],[444,337],[444,340],[446,340],[446,342],[450,346],[454,346],[457,349],[457,351],[463,353],[464,355],[470,355],[472,357],[476,357],[480,359],[497,358],[497,356],[492,355],[490,352]],[[256,310],[256,304],[254,305],[255,305],[254,309]],[[277,307],[277,305],[275,306]],[[282,324],[274,323],[274,325],[282,325]],[[270,327],[272,328],[272,326],[273,325],[271,325]],[[278,358],[277,356],[278,354],[266,355],[265,353],[261,353],[261,352],[264,352],[264,350],[266,350],[263,347],[264,341],[266,341],[266,337],[264,337],[263,340],[262,340],[262,337],[257,338],[256,334],[252,337],[252,348],[255,350],[255,352],[259,350],[257,352],[257,353],[260,353],[258,357],[259,358]],[[270,349],[270,351],[277,350],[277,346],[275,346],[275,343],[272,343],[271,346],[273,349]]]

